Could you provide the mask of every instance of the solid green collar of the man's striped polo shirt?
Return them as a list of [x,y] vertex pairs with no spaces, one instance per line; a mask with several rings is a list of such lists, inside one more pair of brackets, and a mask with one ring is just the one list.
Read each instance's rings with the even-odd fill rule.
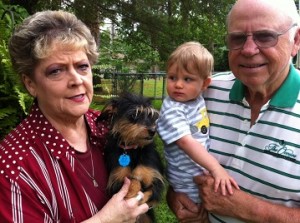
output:
[[[290,71],[283,84],[270,100],[270,105],[275,107],[293,107],[297,101],[300,90],[300,73],[290,65]],[[240,80],[235,80],[229,94],[232,101],[242,101],[245,97],[245,86]]]

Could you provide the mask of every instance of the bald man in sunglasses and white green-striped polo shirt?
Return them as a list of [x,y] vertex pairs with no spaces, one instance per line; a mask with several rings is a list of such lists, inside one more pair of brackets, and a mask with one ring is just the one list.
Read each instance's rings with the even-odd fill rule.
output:
[[293,0],[238,0],[227,18],[232,75],[205,94],[210,152],[237,181],[231,196],[199,176],[202,204],[168,192],[180,222],[300,221],[300,74],[291,64],[300,45]]

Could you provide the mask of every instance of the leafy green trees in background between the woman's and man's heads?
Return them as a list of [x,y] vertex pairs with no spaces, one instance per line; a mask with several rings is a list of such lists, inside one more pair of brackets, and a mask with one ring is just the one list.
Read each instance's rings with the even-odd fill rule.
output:
[[[124,51],[123,67],[127,62],[147,61],[138,69],[161,65],[179,44],[196,40],[215,57],[215,69],[226,70],[227,52],[224,42],[225,17],[235,0],[14,0],[30,13],[43,9],[65,9],[74,12],[92,30],[100,44]],[[115,25],[113,42],[103,41],[99,26],[104,18]],[[122,47],[120,47],[120,45]],[[131,49],[131,50],[130,50]],[[102,49],[101,49],[102,50]],[[109,52],[103,51],[102,55]],[[115,55],[118,52],[112,53]],[[157,61],[157,55],[158,60]],[[149,60],[150,59],[150,60]],[[132,63],[130,63],[132,65]],[[150,66],[150,67],[149,67]]]

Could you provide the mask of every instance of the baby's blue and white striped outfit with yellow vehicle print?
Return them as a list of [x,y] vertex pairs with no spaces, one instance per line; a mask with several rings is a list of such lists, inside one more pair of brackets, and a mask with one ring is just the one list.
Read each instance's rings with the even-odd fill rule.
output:
[[208,148],[209,121],[203,97],[186,103],[167,97],[160,110],[157,127],[164,142],[168,181],[175,191],[184,192],[199,203],[198,186],[193,182],[193,176],[201,174],[203,168],[185,154],[176,141],[192,135]]

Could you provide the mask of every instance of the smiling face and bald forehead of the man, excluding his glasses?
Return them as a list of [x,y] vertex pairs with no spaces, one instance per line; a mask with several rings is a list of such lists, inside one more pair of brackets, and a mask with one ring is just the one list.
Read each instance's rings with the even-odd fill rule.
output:
[[[231,14],[228,32],[253,32],[267,30],[282,33],[291,27],[292,22],[278,12],[267,7],[240,5]],[[241,49],[230,50],[228,54],[229,66],[234,75],[253,91],[274,91],[286,78],[289,71],[291,56],[295,51],[294,37],[291,28],[278,36],[275,46],[259,47],[248,36]]]

